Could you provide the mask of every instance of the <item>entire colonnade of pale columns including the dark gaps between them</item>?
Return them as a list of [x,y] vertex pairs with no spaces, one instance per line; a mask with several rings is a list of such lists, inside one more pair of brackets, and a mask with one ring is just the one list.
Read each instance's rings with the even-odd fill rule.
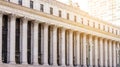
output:
[[0,63],[116,67],[119,46],[112,39],[0,13]]

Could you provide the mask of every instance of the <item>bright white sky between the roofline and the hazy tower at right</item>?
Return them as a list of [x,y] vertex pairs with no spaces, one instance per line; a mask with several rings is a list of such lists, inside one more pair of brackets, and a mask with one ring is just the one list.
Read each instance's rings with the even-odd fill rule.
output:
[[[58,0],[63,3],[67,3],[68,0]],[[87,0],[72,0],[73,3],[78,3],[80,6],[80,9],[88,12],[88,1]]]

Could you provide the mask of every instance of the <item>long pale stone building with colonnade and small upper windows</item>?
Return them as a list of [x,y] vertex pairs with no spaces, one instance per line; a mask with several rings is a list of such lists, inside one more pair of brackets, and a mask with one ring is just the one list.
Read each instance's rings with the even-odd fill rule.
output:
[[117,67],[120,27],[56,0],[0,0],[0,67]]

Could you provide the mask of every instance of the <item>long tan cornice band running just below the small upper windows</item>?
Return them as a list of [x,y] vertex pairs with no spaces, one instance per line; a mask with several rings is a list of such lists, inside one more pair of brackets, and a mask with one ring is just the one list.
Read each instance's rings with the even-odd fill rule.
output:
[[102,34],[105,34],[105,35],[112,36],[112,37],[120,38],[119,35],[115,35],[115,34],[112,34],[112,33],[109,33],[109,32],[105,32],[105,31],[102,31],[102,30],[99,30],[99,29],[96,29],[96,28],[93,28],[93,27],[90,27],[90,26],[87,26],[87,25],[80,24],[78,22],[73,22],[73,21],[70,21],[70,20],[66,20],[64,18],[60,18],[60,17],[54,16],[54,15],[43,13],[43,12],[40,12],[40,11],[37,11],[37,10],[34,10],[34,9],[30,9],[30,8],[27,8],[27,7],[24,7],[24,6],[14,4],[14,3],[0,1],[0,5],[10,7],[10,8],[13,8],[13,9],[17,9],[17,10],[22,10],[24,12],[28,12],[30,14],[42,16],[42,17],[45,17],[45,18],[50,18],[50,19],[53,19],[53,20],[56,20],[56,21],[61,21],[63,23],[67,23],[67,24],[71,24],[71,25],[74,25],[74,26],[77,26],[77,27],[85,28],[87,30],[89,29],[91,31],[95,31],[95,32],[98,32],[98,33],[102,33]]

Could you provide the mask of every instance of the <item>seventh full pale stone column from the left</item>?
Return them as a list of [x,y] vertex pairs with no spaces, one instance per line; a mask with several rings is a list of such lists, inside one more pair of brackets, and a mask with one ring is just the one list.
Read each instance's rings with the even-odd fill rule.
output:
[[73,31],[69,30],[69,64],[73,66]]

